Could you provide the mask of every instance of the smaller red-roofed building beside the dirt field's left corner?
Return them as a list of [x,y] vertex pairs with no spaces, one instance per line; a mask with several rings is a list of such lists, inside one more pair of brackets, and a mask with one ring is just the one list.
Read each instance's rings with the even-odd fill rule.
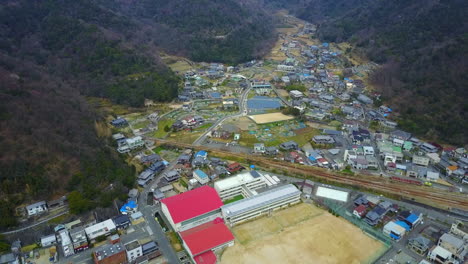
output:
[[[223,221],[218,221],[218,219],[182,231],[179,234],[184,241],[185,248],[194,259],[198,256],[203,256],[203,259],[208,258],[210,255],[204,253],[234,243],[234,236],[231,231]],[[198,257],[198,259],[200,258]]]

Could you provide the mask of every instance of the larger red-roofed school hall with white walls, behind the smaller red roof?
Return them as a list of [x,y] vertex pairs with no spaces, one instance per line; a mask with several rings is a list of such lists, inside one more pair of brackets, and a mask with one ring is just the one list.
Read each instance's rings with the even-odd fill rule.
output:
[[[161,200],[161,210],[175,231],[189,229],[221,217],[223,202],[216,190],[202,186]],[[205,215],[205,218],[201,217]],[[197,221],[189,221],[197,217]]]

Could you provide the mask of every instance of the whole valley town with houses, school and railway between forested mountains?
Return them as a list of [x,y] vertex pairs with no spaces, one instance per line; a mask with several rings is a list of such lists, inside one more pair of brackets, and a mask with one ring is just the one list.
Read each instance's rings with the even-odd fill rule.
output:
[[171,103],[89,98],[134,188],[86,215],[67,196],[18,208],[0,264],[466,263],[468,151],[401,129],[379,65],[283,20],[261,60],[164,54]]

